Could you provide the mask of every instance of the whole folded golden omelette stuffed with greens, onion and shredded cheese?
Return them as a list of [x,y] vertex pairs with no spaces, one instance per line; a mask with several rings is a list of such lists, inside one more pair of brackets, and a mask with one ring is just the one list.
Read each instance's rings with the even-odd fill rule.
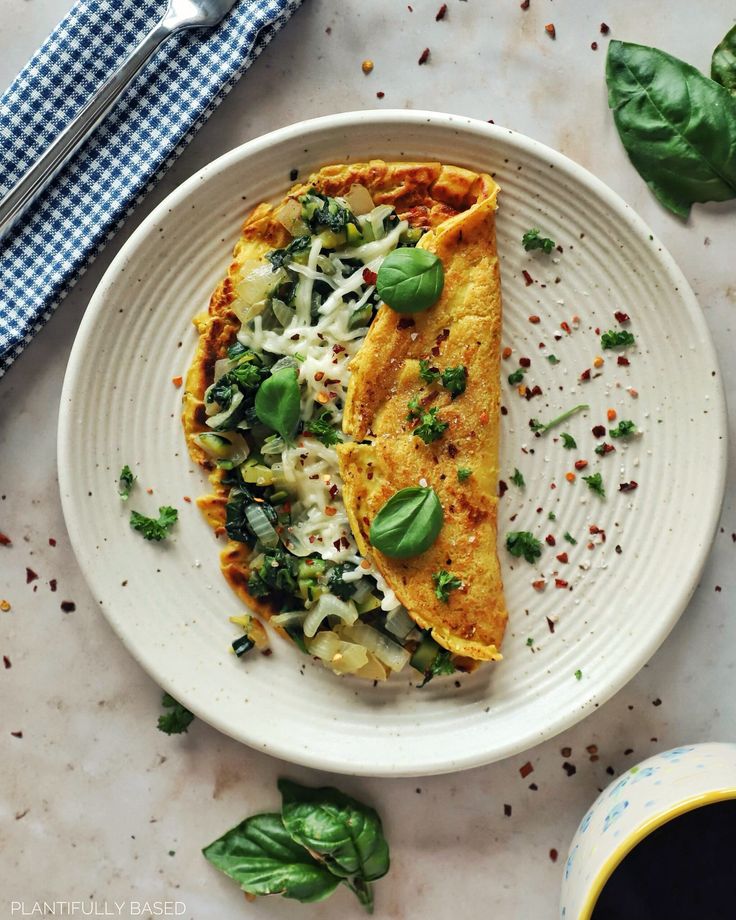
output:
[[[325,167],[250,214],[195,318],[183,423],[223,573],[339,674],[500,658],[497,192],[439,163]],[[417,261],[443,279],[432,302],[392,302],[389,265]],[[378,525],[405,495],[436,533],[397,555]],[[234,619],[238,654],[263,645]]]

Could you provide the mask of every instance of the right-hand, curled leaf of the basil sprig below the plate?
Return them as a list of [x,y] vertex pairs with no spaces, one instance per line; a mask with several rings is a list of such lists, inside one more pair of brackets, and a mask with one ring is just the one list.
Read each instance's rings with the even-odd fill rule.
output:
[[333,875],[371,882],[388,872],[388,843],[372,808],[331,786],[310,789],[287,779],[278,785],[284,827]]

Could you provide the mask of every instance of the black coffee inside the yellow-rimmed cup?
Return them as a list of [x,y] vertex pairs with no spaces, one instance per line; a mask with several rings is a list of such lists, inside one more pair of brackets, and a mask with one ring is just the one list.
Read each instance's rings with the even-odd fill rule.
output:
[[634,847],[592,920],[734,920],[736,800],[705,805]]

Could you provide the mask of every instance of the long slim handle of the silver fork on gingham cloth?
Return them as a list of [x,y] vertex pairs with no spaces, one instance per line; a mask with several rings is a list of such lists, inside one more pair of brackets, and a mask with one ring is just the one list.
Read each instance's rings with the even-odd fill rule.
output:
[[0,241],[105,118],[162,42],[177,31],[164,17],[131,51],[33,166],[0,201]]

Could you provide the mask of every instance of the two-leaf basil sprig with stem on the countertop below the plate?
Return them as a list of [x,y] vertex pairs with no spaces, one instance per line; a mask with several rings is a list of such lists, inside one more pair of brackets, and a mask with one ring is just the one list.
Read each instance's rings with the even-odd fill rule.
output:
[[254,815],[202,850],[253,895],[322,901],[343,882],[369,913],[371,882],[388,872],[381,819],[338,789],[279,780],[282,814]]

